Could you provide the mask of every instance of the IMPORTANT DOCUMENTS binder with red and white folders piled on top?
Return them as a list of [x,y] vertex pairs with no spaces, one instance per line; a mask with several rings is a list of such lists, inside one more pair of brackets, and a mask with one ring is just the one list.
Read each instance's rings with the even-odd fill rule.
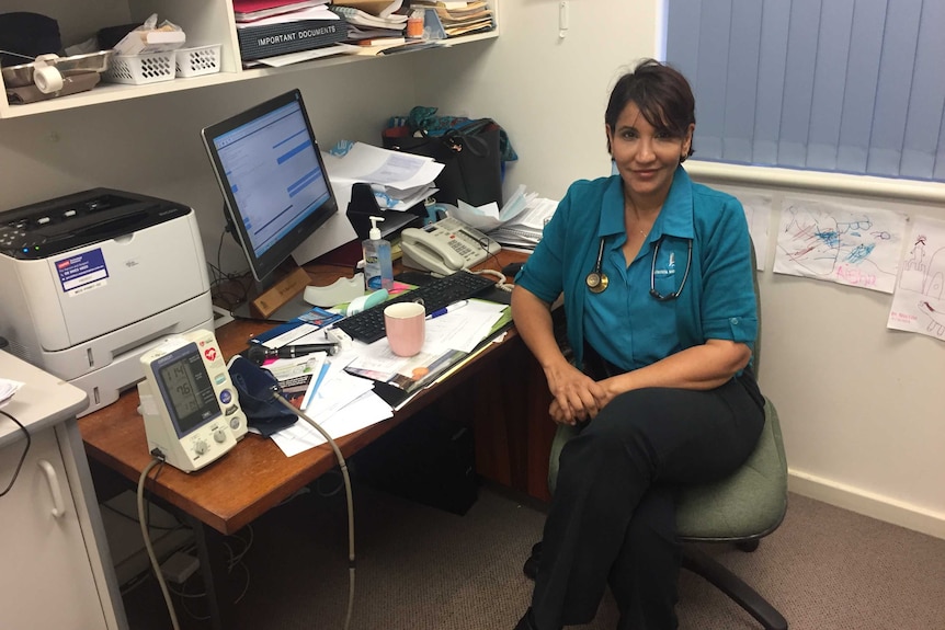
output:
[[232,0],[243,65],[332,46],[348,25],[330,0]]

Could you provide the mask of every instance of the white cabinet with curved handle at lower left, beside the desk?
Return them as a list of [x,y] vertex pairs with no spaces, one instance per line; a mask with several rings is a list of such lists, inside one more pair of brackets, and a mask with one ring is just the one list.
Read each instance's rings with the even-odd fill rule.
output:
[[10,492],[0,497],[3,627],[126,628],[76,411],[70,409],[77,401],[79,409],[84,408],[84,392],[4,352],[0,377],[27,383],[3,411],[31,433],[18,474],[26,440],[0,415],[0,490],[16,476]]

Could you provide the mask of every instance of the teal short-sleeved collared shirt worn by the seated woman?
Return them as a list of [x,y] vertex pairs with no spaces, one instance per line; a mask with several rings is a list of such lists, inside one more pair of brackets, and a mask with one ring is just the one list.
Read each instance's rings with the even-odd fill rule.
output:
[[[629,268],[619,245],[626,241],[619,175],[571,184],[545,227],[515,283],[551,302],[563,291],[568,341],[578,365],[588,341],[604,358],[624,369],[649,365],[709,339],[753,347],[758,336],[751,241],[738,199],[694,183],[680,167],[652,230]],[[584,283],[605,245],[607,290],[592,294]],[[692,268],[678,299],[649,296],[653,247],[660,238],[656,287],[667,295],[679,288],[692,239]],[[670,273],[670,254],[675,270]],[[615,284],[623,284],[622,288]],[[616,290],[615,290],[616,289]],[[591,300],[606,298],[603,307]],[[611,310],[611,303],[616,305]]]

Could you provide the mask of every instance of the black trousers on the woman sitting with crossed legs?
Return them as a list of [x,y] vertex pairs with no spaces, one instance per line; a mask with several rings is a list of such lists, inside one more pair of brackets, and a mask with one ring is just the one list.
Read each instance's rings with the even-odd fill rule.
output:
[[590,622],[607,585],[620,630],[675,629],[675,495],[732,472],[763,426],[750,371],[709,391],[628,391],[601,410],[561,451],[532,596],[538,630]]

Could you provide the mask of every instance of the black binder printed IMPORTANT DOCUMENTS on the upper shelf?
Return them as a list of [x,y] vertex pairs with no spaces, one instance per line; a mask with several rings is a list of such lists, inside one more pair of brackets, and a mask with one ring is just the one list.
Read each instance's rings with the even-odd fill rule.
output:
[[348,38],[344,20],[301,20],[237,28],[243,61],[300,53],[343,42]]

